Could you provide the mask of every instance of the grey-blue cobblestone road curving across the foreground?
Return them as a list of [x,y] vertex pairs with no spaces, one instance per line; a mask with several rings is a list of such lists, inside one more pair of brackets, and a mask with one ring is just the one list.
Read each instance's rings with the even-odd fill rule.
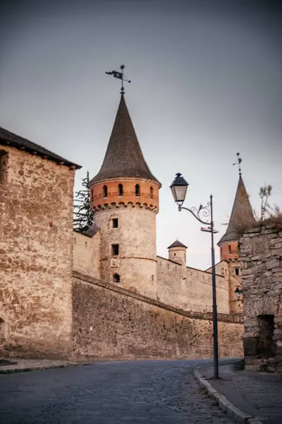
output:
[[198,386],[198,364],[114,361],[0,375],[0,423],[233,424]]

